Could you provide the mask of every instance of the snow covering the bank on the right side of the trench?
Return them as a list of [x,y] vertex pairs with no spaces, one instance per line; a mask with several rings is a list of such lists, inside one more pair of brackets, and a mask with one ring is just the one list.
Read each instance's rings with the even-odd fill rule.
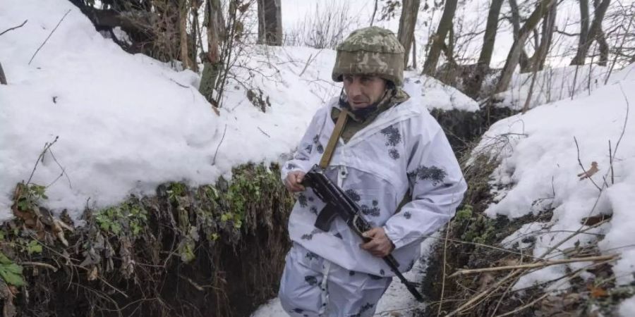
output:
[[[612,263],[617,285],[634,281],[635,239],[631,230],[635,226],[635,147],[631,144],[635,142],[635,118],[634,110],[629,108],[635,101],[632,70],[629,66],[613,73],[607,85],[602,80],[591,92],[500,120],[485,133],[473,155],[488,154],[500,160],[491,178],[492,185],[499,189],[494,191],[495,199],[485,213],[519,218],[553,209],[548,223],[524,225],[503,241],[504,247],[513,247],[514,242],[520,242],[516,247],[526,247],[521,237],[532,235],[536,237],[533,256],[563,259],[563,251],[597,244],[602,254],[620,256]],[[565,86],[572,85],[570,78],[564,82]],[[580,165],[588,170],[593,161],[598,163],[599,171],[581,180]],[[583,225],[584,218],[600,214],[612,215],[612,219],[595,228]],[[567,240],[576,230],[585,232]],[[598,241],[601,235],[604,237]],[[567,267],[576,270],[590,264],[533,271],[514,288],[560,277]]]

